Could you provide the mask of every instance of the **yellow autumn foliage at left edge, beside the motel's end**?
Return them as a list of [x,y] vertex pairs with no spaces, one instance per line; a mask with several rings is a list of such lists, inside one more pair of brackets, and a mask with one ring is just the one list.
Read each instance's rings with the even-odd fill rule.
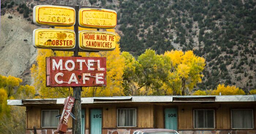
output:
[[20,85],[21,79],[14,76],[0,75],[0,134],[25,132],[26,108],[8,106],[7,99],[31,99],[35,95],[35,88]]

